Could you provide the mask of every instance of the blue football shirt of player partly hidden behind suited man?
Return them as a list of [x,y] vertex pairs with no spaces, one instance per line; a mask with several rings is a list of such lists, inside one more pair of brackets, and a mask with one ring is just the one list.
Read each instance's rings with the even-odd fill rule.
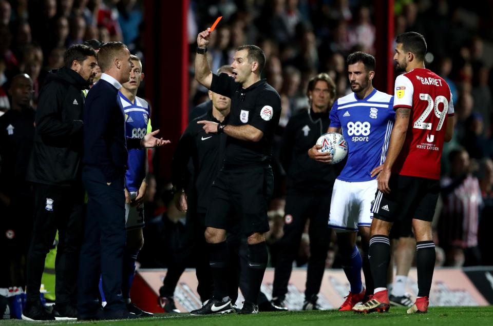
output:
[[[151,131],[149,104],[136,96],[131,103],[120,91],[118,104],[125,113],[125,136],[129,138],[144,138]],[[126,188],[128,191],[137,191],[145,177],[146,149],[129,149],[127,171],[125,173]]]

